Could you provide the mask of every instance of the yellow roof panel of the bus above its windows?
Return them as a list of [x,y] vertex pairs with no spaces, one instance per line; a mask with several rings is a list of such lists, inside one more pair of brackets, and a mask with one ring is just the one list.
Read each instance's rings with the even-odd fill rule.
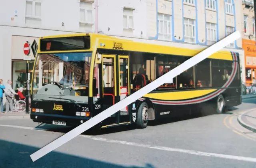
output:
[[[62,34],[62,35],[55,35],[55,36],[44,36],[44,37],[40,37],[40,39],[65,38],[65,37],[77,37],[77,36],[90,36],[91,44],[92,44],[91,46],[94,46],[96,43],[96,39],[98,39],[99,40],[98,48],[101,48],[101,49],[138,51],[138,52],[145,52],[145,53],[181,55],[181,56],[194,56],[200,53],[200,51],[204,50],[204,49],[188,49],[184,47],[174,47],[174,46],[168,46],[168,45],[158,45],[158,44],[152,44],[152,43],[134,42],[132,40],[125,40],[122,38],[116,38],[116,37],[112,37],[104,34],[95,34],[95,33]],[[40,40],[39,40],[39,45],[40,45]],[[87,51],[90,51],[90,50],[92,50],[92,47],[90,47],[90,49]],[[74,52],[74,50],[68,51],[68,52]],[[231,52],[223,51],[223,50],[212,54],[209,58],[233,60]]]

